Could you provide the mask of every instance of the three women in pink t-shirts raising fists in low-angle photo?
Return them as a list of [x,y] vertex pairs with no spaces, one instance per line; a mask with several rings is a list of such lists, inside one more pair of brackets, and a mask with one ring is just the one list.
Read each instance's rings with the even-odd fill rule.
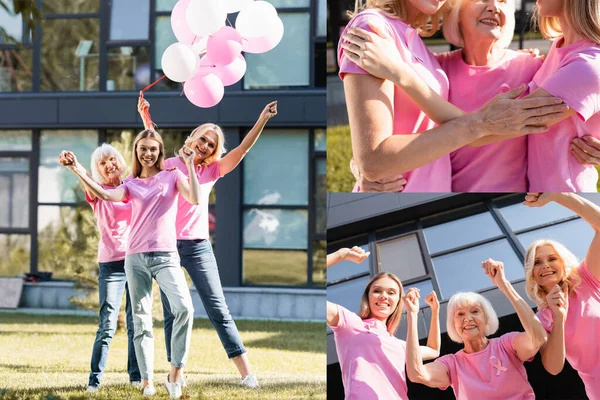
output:
[[[381,272],[367,284],[358,315],[327,303],[327,323],[334,332],[346,399],[407,399],[408,378],[446,389],[462,399],[534,399],[523,363],[539,351],[544,368],[558,374],[565,358],[577,370],[590,400],[600,399],[600,207],[574,194],[529,193],[525,204],[550,201],[572,210],[594,230],[585,259],[552,240],[535,241],[525,255],[526,291],[538,305],[534,314],[504,275],[504,265],[488,259],[485,273],[508,298],[524,332],[490,339],[498,317],[490,302],[474,292],[460,292],[447,304],[450,339],[463,343],[455,354],[440,354],[439,303],[432,292],[427,346],[419,346],[419,291],[404,292],[393,274]],[[342,259],[362,262],[361,248],[341,249],[328,256],[328,266]],[[406,342],[394,336],[406,308]],[[435,361],[423,364],[424,359]]]

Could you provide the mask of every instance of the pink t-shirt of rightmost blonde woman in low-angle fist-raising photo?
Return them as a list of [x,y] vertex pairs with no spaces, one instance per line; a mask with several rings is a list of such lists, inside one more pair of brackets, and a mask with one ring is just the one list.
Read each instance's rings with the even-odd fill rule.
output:
[[[569,311],[565,321],[565,349],[569,364],[577,370],[591,400],[600,399],[600,281],[585,261],[577,268],[581,284],[569,293]],[[548,332],[554,313],[543,308],[537,316]]]

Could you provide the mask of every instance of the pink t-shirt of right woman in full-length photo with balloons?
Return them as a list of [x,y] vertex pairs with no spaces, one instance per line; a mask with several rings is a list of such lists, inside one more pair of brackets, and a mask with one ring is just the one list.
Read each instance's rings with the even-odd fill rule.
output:
[[[165,168],[177,167],[181,172],[188,176],[187,166],[179,157],[169,158],[165,160]],[[198,182],[200,182],[200,189],[202,198],[197,206],[188,203],[181,195],[177,200],[177,240],[194,240],[194,239],[208,239],[208,198],[210,191],[214,186],[219,175],[219,161],[215,161],[212,164],[201,167],[195,166],[196,175],[198,176]]]

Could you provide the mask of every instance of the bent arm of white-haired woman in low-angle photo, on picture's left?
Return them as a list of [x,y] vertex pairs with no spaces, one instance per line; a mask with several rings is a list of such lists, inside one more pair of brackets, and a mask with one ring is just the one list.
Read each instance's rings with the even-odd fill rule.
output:
[[[418,292],[417,292],[418,293]],[[418,314],[419,299],[414,291],[409,290],[402,298],[406,307],[408,332],[406,335],[406,373],[408,379],[429,387],[445,388],[450,386],[450,377],[446,367],[438,362],[423,364],[419,346]]]

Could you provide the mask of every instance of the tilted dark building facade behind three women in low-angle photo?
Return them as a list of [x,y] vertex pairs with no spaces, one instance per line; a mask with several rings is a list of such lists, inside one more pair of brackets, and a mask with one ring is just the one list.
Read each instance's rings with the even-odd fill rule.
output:
[[[600,196],[586,197],[600,204]],[[371,255],[362,264],[344,261],[328,269],[327,300],[358,312],[367,282],[387,271],[396,274],[405,289],[419,288],[422,298],[436,292],[441,304],[442,355],[461,348],[448,338],[445,328],[447,302],[459,291],[479,292],[490,300],[500,318],[497,335],[522,331],[510,302],[482,271],[481,262],[487,258],[502,261],[507,279],[527,299],[523,260],[534,240],[557,240],[581,260],[594,236],[593,229],[570,210],[556,203],[529,208],[521,204],[523,199],[524,194],[328,194],[328,253],[361,246]],[[430,319],[430,309],[421,301],[419,335],[423,345]],[[396,336],[406,339],[406,329],[403,316]],[[327,330],[327,398],[342,399],[335,341],[331,329]],[[526,363],[537,398],[585,398],[581,380],[567,364],[553,377],[544,370],[539,355]],[[454,398],[451,389],[441,391],[411,382],[409,396]]]

